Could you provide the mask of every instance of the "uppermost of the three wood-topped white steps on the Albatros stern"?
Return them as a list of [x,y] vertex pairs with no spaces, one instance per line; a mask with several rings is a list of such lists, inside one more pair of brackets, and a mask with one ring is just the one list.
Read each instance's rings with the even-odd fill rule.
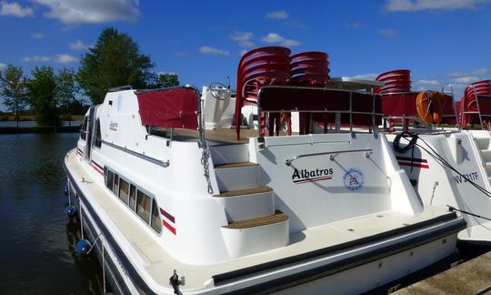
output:
[[261,186],[261,169],[256,163],[235,162],[215,165],[215,175],[221,192]]

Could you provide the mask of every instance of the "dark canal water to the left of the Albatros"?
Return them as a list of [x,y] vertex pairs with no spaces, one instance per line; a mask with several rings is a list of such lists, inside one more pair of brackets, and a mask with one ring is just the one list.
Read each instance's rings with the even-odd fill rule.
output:
[[65,216],[65,153],[78,134],[0,135],[0,293],[101,294],[95,256],[75,253]]

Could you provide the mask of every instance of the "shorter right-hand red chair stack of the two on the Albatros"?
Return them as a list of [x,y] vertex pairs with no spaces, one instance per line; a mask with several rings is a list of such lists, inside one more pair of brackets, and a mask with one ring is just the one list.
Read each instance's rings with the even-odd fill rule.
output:
[[[291,85],[296,86],[316,86],[324,87],[329,82],[329,56],[325,52],[307,51],[290,56]],[[316,121],[323,121],[324,128],[327,127],[326,114],[322,118],[314,118]],[[310,131],[312,114],[302,113],[299,116],[300,134],[307,134]]]

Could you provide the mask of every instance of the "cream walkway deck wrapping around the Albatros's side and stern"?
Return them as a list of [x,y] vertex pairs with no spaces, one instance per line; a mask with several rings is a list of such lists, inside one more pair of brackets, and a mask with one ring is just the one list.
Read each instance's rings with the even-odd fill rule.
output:
[[[175,259],[163,249],[159,243],[152,237],[150,231],[147,231],[143,224],[135,222],[131,217],[133,214],[129,209],[122,206],[112,193],[102,185],[100,175],[96,174],[93,168],[90,168],[85,160],[76,156],[75,149],[67,155],[66,166],[72,173],[78,186],[86,194],[85,197],[90,202],[95,211],[98,211],[102,220],[107,218],[112,222],[106,222],[106,226],[113,232],[119,230],[122,235],[129,241],[130,249],[124,249],[125,253],[138,253],[140,258],[131,257],[132,261],[145,261],[136,270],[140,271],[142,277],[147,273],[158,284],[168,288],[168,278],[173,270],[177,270],[180,276],[185,276],[185,286],[181,290],[201,289],[205,282],[209,281],[215,274],[224,273],[231,270],[237,270],[264,263],[266,261],[283,259],[292,255],[305,253],[307,251],[322,249],[334,246],[339,243],[347,242],[354,239],[360,239],[367,236],[375,235],[390,229],[404,227],[405,224],[413,224],[425,219],[432,219],[439,215],[445,214],[446,209],[426,208],[422,214],[411,216],[402,214],[394,210],[378,212],[373,215],[360,217],[357,219],[344,220],[312,229],[306,229],[302,232],[290,235],[290,245],[281,249],[274,249],[264,253],[234,259],[219,264],[208,266],[196,266],[183,264]],[[85,179],[85,182],[78,182]],[[92,182],[92,183],[91,183]],[[92,198],[95,196],[96,198]],[[210,198],[212,198],[210,196]],[[104,212],[99,212],[99,210]],[[326,212],[327,214],[327,212]],[[113,227],[116,227],[114,229]],[[155,236],[155,235],[154,235]],[[177,236],[176,239],[179,239]],[[196,245],[199,247],[199,245]],[[133,255],[133,254],[130,254]],[[143,267],[143,269],[142,269]]]

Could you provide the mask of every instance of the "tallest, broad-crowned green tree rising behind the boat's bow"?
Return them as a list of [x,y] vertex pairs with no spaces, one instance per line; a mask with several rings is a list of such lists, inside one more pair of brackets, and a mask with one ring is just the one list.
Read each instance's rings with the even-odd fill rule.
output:
[[85,95],[99,104],[111,87],[147,87],[155,75],[153,68],[150,56],[140,53],[130,36],[108,27],[102,31],[95,46],[82,56],[77,80]]

